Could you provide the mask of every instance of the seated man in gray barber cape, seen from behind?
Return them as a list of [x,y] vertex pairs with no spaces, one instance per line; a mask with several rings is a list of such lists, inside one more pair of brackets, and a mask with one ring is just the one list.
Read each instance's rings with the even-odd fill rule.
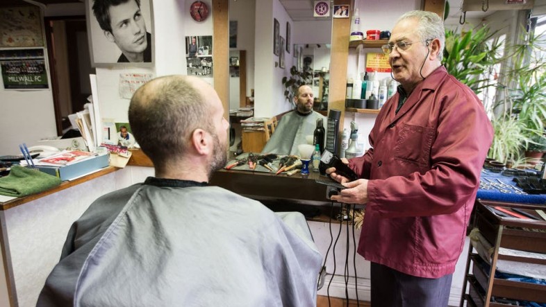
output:
[[322,256],[303,216],[289,227],[207,184],[226,164],[223,115],[199,78],[136,91],[129,122],[156,177],[102,196],[74,222],[38,306],[315,306]]

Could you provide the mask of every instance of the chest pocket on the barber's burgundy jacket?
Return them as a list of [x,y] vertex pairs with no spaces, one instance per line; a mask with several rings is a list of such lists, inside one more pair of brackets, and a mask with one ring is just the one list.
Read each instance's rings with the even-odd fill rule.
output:
[[427,168],[430,166],[434,133],[433,128],[404,123],[397,138],[395,159]]

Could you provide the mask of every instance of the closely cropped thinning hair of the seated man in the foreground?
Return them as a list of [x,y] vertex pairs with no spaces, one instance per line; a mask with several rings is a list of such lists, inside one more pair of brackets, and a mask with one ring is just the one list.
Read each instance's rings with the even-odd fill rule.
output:
[[156,78],[138,89],[129,105],[129,123],[154,166],[183,155],[191,133],[213,126],[209,104],[185,76]]

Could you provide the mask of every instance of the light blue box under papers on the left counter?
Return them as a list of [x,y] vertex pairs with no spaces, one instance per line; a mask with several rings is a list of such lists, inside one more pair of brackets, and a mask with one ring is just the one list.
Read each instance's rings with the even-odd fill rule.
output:
[[67,166],[37,166],[37,168],[44,173],[59,177],[62,181],[72,180],[105,168],[108,166],[109,157],[110,155],[98,155]]

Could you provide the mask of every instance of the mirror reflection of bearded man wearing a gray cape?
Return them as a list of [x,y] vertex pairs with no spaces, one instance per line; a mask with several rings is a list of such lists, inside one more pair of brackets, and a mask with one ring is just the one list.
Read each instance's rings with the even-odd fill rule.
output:
[[294,97],[296,109],[283,115],[271,139],[267,141],[262,152],[279,155],[299,155],[297,146],[306,144],[306,136],[313,135],[317,128],[317,119],[326,119],[319,112],[313,111],[313,89],[301,85]]

